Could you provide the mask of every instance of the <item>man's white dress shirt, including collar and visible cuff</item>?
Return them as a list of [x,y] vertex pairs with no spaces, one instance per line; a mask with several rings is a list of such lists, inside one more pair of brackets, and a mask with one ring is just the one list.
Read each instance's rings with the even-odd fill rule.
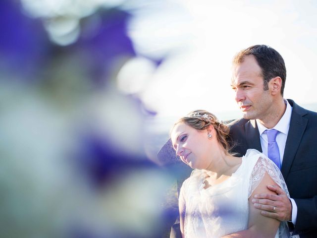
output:
[[[278,145],[279,149],[279,155],[280,155],[280,165],[283,163],[283,157],[284,157],[284,150],[285,150],[285,144],[286,144],[286,139],[288,135],[288,130],[289,130],[289,125],[291,121],[291,116],[292,116],[292,106],[289,104],[287,100],[284,99],[284,103],[286,104],[286,110],[283,115],[283,117],[277,122],[277,124],[272,128],[275,130],[278,130],[278,134],[276,136],[276,143]],[[268,130],[261,122],[257,119],[257,124],[258,124],[258,129],[260,132],[260,141],[261,141],[261,147],[262,147],[262,152],[264,155],[267,156],[267,135],[266,131]],[[292,223],[295,225],[296,224],[296,218],[297,218],[297,206],[293,198],[290,199],[292,202]]]

